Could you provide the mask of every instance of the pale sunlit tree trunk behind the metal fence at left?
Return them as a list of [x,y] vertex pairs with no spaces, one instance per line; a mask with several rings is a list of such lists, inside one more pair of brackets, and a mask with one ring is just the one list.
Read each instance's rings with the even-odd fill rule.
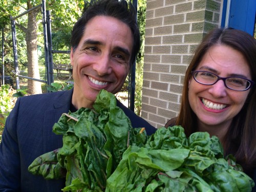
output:
[[[28,3],[28,8],[32,6]],[[33,11],[28,14],[28,28],[26,33],[27,51],[28,51],[28,76],[40,79],[37,55],[37,12]],[[42,93],[41,82],[28,79],[29,94]]]

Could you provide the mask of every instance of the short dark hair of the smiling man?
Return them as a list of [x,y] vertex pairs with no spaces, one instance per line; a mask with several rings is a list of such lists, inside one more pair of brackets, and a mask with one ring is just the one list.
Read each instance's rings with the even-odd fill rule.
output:
[[130,66],[135,61],[140,48],[140,32],[137,26],[136,9],[125,0],[92,0],[84,3],[82,16],[77,20],[71,34],[71,47],[77,48],[88,21],[95,16],[112,16],[130,27],[133,34],[133,50]]

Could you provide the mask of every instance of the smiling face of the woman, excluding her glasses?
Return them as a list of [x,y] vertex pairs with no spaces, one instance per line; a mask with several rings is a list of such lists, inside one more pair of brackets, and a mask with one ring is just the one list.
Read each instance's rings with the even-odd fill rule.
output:
[[[239,76],[251,80],[250,69],[244,56],[224,45],[211,47],[205,53],[196,71],[208,71],[220,77]],[[199,126],[228,127],[242,109],[249,90],[234,91],[225,87],[223,80],[204,85],[193,77],[188,83],[188,100],[198,118]]]

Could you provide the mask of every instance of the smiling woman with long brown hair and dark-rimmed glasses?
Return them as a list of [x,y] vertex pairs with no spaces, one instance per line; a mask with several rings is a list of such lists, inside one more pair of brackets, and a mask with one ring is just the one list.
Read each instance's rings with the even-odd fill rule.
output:
[[187,136],[218,136],[224,155],[236,157],[255,182],[256,40],[240,30],[211,31],[197,48],[184,82],[179,116],[165,127],[181,125]]

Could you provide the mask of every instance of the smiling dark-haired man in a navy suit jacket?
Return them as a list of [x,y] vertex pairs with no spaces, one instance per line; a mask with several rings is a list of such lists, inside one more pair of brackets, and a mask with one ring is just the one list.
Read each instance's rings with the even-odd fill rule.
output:
[[[87,7],[87,6],[86,6]],[[0,144],[0,191],[60,191],[65,179],[45,180],[28,172],[32,161],[62,146],[52,127],[62,113],[92,108],[101,89],[120,91],[139,50],[132,5],[103,0],[86,8],[71,37],[74,89],[19,98],[9,115]],[[155,128],[120,102],[133,127]]]

